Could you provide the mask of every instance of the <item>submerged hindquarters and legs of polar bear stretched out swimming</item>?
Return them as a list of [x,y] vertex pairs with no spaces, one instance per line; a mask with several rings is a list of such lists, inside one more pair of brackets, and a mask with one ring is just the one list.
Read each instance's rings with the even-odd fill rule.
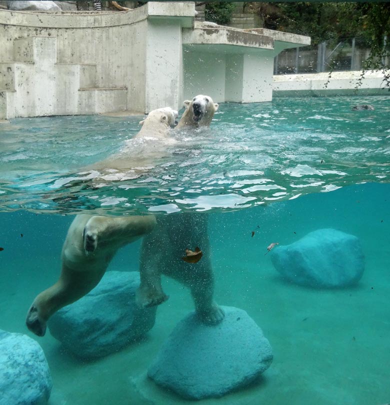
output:
[[76,215],[62,246],[59,279],[33,300],[26,317],[28,329],[43,336],[48,318],[95,287],[117,249],[150,232],[155,224],[154,215]]

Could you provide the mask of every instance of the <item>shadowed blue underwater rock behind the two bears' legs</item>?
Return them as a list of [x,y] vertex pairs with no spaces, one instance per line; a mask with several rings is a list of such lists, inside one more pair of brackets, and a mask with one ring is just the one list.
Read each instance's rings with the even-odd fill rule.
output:
[[138,271],[108,271],[88,294],[57,311],[48,321],[52,336],[81,358],[118,351],[154,325],[156,307],[139,308]]

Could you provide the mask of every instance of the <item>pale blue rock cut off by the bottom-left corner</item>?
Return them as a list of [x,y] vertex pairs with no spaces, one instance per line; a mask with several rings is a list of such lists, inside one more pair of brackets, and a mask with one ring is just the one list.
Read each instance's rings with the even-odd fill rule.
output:
[[51,375],[39,344],[0,329],[0,405],[44,405]]

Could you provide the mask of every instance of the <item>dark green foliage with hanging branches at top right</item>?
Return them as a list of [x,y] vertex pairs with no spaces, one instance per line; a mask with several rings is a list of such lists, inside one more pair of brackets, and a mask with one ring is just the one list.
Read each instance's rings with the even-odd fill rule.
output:
[[[370,49],[357,86],[368,69],[383,70],[385,86],[390,90],[390,3],[388,2],[280,2],[256,3],[255,11],[264,27],[308,35],[316,47],[326,41],[335,47],[355,38],[359,47]],[[386,38],[386,39],[385,39]]]

